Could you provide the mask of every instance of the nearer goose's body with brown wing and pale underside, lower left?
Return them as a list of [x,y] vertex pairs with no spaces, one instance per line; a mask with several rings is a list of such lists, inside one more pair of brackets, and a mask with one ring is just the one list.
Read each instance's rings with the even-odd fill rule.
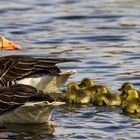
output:
[[29,85],[0,89],[0,123],[50,123],[55,102],[48,94]]

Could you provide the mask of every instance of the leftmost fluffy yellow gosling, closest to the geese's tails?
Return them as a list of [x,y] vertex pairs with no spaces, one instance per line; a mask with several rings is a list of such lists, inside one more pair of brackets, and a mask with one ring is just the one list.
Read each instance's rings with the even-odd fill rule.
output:
[[76,83],[69,83],[65,99],[68,103],[85,104],[90,102],[91,94],[84,89],[80,89]]

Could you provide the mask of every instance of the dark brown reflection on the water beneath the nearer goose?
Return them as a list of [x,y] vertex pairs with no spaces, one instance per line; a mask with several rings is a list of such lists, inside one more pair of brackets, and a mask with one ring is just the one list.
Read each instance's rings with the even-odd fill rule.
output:
[[54,132],[53,126],[45,124],[6,124],[1,127],[0,139],[40,139],[51,137]]

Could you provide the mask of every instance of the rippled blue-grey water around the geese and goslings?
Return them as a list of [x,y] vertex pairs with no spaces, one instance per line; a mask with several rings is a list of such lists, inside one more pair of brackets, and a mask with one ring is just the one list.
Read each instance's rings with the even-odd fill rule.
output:
[[[61,64],[75,69],[68,82],[93,78],[113,91],[130,81],[140,88],[139,0],[6,0],[0,1],[0,34],[28,54],[78,58]],[[133,116],[134,117],[134,116]],[[140,119],[119,108],[72,106],[56,108],[53,127],[6,125],[1,139],[140,139]]]

